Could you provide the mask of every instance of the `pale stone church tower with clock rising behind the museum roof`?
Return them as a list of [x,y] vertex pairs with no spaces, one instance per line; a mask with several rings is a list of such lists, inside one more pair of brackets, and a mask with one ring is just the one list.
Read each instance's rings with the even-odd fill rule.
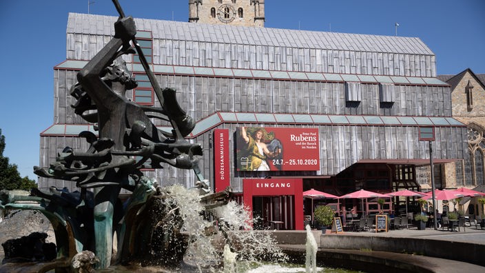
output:
[[265,26],[264,0],[189,0],[189,22]]

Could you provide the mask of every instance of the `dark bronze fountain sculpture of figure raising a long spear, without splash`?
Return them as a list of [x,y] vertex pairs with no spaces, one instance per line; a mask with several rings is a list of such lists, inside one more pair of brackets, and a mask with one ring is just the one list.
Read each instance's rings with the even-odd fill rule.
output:
[[[202,155],[202,148],[184,139],[194,128],[194,122],[178,105],[175,90],[161,90],[158,86],[136,44],[134,19],[125,17],[118,2],[113,2],[121,14],[114,24],[115,35],[77,74],[78,83],[71,88],[71,95],[76,99],[72,105],[74,112],[85,121],[95,123],[99,136],[81,132],[79,136],[90,144],[87,151],[66,147],[49,168],[34,167],[39,176],[76,181],[81,192],[65,193],[55,188],[51,192],[32,190],[31,196],[11,196],[0,203],[0,208],[39,210],[48,216],[59,242],[58,256],[72,257],[76,252],[92,250],[100,260],[96,267],[109,267],[112,235],[116,229],[121,242],[118,261],[136,256],[138,250],[147,253],[149,247],[165,247],[162,249],[165,254],[158,258],[178,262],[185,251],[179,232],[182,220],[177,213],[165,214],[162,219],[169,225],[161,226],[157,223],[161,219],[149,217],[153,210],[160,210],[161,215],[176,211],[176,205],[159,201],[169,198],[169,193],[143,176],[141,168],[163,168],[162,164],[166,163],[193,169],[198,179],[195,188],[204,194],[200,201],[205,208],[227,203],[229,191],[209,194],[208,182],[200,173],[196,158]],[[138,51],[161,108],[138,105],[125,97],[126,90],[136,86],[121,58],[135,52],[130,42]],[[159,130],[151,119],[169,123],[172,133]],[[135,156],[141,159],[136,161]],[[121,188],[133,192],[124,206],[118,200]],[[33,203],[16,203],[19,200]],[[121,226],[116,225],[119,221],[123,221]],[[145,232],[134,239],[139,229]],[[150,241],[156,232],[164,234],[163,247]]]

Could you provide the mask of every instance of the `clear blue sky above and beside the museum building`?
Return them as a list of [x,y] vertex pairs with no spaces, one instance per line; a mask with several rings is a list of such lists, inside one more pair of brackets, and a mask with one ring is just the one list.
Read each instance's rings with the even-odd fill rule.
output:
[[[187,21],[187,0],[119,0],[133,17]],[[243,1],[243,0],[238,0]],[[249,0],[244,0],[249,1]],[[110,0],[0,0],[3,54],[0,128],[4,156],[36,179],[39,134],[53,119],[53,67],[65,60],[68,12],[116,16]],[[267,28],[418,37],[436,55],[437,74],[485,74],[483,0],[265,0]]]

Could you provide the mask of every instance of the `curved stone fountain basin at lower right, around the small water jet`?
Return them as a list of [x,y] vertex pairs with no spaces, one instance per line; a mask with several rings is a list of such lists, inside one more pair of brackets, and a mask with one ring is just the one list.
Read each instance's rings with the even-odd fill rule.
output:
[[[485,245],[375,236],[375,234],[325,234],[313,231],[320,245],[318,266],[364,272],[484,272],[478,259]],[[317,236],[318,234],[318,236]],[[305,232],[275,231],[274,237],[290,262],[305,261]],[[460,252],[460,253],[457,253]],[[384,271],[383,271],[384,270]]]

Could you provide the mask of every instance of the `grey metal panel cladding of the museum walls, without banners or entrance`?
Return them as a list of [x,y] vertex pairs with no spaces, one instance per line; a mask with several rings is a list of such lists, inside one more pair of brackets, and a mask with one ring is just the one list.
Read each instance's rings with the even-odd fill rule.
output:
[[[116,19],[69,14],[66,59],[87,61],[94,57],[114,34]],[[391,97],[393,103],[382,105],[378,82],[357,83],[359,86],[355,88],[360,88],[360,97],[356,98],[360,101],[347,101],[343,80],[271,79],[257,75],[281,71],[435,77],[435,56],[417,38],[149,19],[135,21],[138,30],[152,32],[154,65],[252,69],[253,77],[157,73],[156,78],[162,88],[178,90],[180,105],[195,121],[203,121],[215,112],[451,117],[450,88],[444,84],[395,84]],[[125,60],[131,64],[130,57],[125,57]],[[74,100],[69,96],[69,89],[76,82],[77,71],[74,68],[54,68],[54,123],[85,123],[70,107]],[[159,105],[156,98],[155,105]],[[336,175],[362,159],[426,159],[429,156],[427,145],[417,141],[417,125],[223,122],[216,128],[229,129],[229,142],[233,147],[232,132],[236,131],[236,127],[257,125],[319,128],[320,171],[284,175]],[[211,132],[201,132],[192,141],[203,145],[200,168],[204,176],[212,180],[210,135]],[[437,128],[437,159],[464,158],[465,141],[464,127],[447,125]],[[41,135],[41,166],[55,161],[56,153],[65,146],[87,149],[87,143],[75,136]],[[231,163],[234,163],[232,153]],[[231,184],[236,192],[243,190],[244,177],[260,175],[235,172],[234,168],[230,172]],[[180,183],[191,186],[195,182],[192,172],[171,167],[147,174],[155,176],[162,185]],[[41,188],[60,185],[58,183],[61,182],[39,179]]]

